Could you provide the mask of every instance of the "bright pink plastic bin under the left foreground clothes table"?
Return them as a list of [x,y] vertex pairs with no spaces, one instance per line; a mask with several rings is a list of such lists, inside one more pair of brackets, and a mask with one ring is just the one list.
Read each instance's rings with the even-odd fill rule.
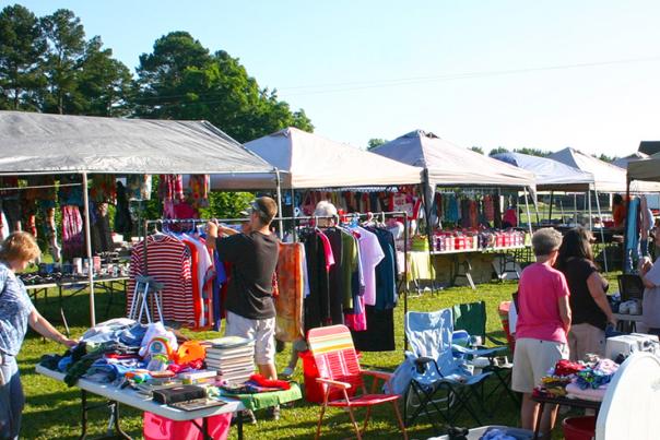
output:
[[[175,421],[153,413],[142,416],[144,440],[203,440],[202,432],[192,421]],[[195,420],[202,426],[202,419]],[[229,433],[232,413],[219,414],[207,418],[209,435],[214,440],[225,440]]]

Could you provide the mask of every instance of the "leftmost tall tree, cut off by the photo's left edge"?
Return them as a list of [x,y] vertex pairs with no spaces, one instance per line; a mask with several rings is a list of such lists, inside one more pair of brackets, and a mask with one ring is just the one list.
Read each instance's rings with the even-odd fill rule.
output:
[[0,108],[35,109],[35,90],[44,85],[46,38],[38,19],[14,4],[0,12]]

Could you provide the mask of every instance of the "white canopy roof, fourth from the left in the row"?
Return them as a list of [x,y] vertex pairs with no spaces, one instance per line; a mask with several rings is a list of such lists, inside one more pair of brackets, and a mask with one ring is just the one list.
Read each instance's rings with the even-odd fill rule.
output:
[[593,175],[546,157],[522,153],[499,153],[492,156],[509,165],[531,171],[540,191],[587,191],[593,185]]

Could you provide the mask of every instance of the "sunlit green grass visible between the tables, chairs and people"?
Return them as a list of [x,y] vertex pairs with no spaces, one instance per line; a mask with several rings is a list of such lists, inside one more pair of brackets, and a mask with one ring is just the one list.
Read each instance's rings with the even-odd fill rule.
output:
[[[516,290],[516,283],[507,282],[503,284],[492,283],[478,286],[476,290],[467,287],[456,287],[441,290],[439,293],[427,293],[421,297],[409,299],[409,309],[416,311],[431,311],[449,307],[455,304],[485,300],[487,304],[488,333],[495,337],[504,338],[502,324],[497,316],[497,306],[500,301],[509,300],[512,292]],[[36,306],[51,319],[54,324],[62,329],[59,319],[59,306],[57,298],[50,296],[48,301],[39,298]],[[64,302],[67,318],[71,326],[73,336],[80,336],[89,326],[87,296],[79,295]],[[108,297],[105,294],[96,296],[96,316],[98,321],[105,320],[105,309]],[[118,301],[116,301],[118,302]],[[109,317],[123,316],[123,305],[115,304],[110,308]],[[108,318],[109,318],[108,317]],[[403,305],[396,309],[396,338],[397,350],[386,353],[364,353],[363,366],[373,369],[393,370],[403,357]],[[195,338],[216,337],[214,332],[192,333],[188,335]],[[75,388],[68,388],[63,383],[42,377],[35,372],[35,365],[44,354],[61,352],[62,347],[50,342],[44,342],[42,337],[31,332],[23,345],[19,356],[23,387],[25,390],[27,404],[23,417],[22,437],[30,439],[73,439],[80,436],[80,392]],[[278,369],[281,370],[286,365],[290,356],[290,346],[283,353],[278,355]],[[302,362],[298,364],[298,370],[294,377],[302,381]],[[503,392],[496,395],[487,403],[487,408],[493,413],[491,417],[483,415],[484,424],[498,424],[516,426],[518,418],[518,408],[514,407],[510,400]],[[305,401],[296,402],[292,407],[282,409],[280,421],[260,420],[255,426],[246,426],[246,438],[260,439],[308,439],[314,436],[316,423],[318,420],[319,406],[309,404]],[[142,416],[141,413],[122,406],[121,412],[122,428],[132,437],[142,437]],[[257,413],[257,418],[260,414]],[[465,419],[464,424],[470,426],[471,420]],[[90,418],[89,432],[92,437],[105,432],[107,426],[107,412],[98,409],[92,413]],[[352,433],[347,414],[340,409],[331,409],[325,418],[323,438],[340,439],[350,437]],[[235,429],[232,430],[231,438],[235,438]],[[425,439],[436,435],[431,425],[421,418],[417,425],[410,428],[411,439]],[[369,424],[367,438],[379,438],[386,436],[397,436],[397,423],[391,407],[377,409],[375,418]],[[555,430],[555,437],[562,438],[561,428]]]

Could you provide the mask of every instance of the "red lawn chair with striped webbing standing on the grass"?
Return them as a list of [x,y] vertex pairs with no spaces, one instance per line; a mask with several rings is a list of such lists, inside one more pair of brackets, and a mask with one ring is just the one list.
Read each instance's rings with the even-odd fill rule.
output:
[[[319,423],[316,429],[317,439],[321,433],[323,414],[328,406],[344,407],[349,411],[353,428],[360,440],[367,429],[369,416],[372,415],[372,406],[387,403],[390,403],[394,407],[394,414],[397,415],[403,438],[408,439],[405,426],[403,425],[403,419],[401,418],[398,406],[401,395],[376,393],[378,379],[387,382],[392,374],[381,371],[367,371],[360,368],[357,354],[353,346],[353,338],[345,325],[311,329],[307,334],[307,342],[319,372],[317,381],[320,382],[325,389],[323,404],[321,406]],[[367,393],[363,376],[370,376],[374,379],[370,393]],[[386,387],[389,388],[389,384],[386,383]],[[362,391],[362,393],[350,396],[346,390],[351,388],[355,388]],[[362,431],[355,421],[353,408],[356,407],[367,408]]]

